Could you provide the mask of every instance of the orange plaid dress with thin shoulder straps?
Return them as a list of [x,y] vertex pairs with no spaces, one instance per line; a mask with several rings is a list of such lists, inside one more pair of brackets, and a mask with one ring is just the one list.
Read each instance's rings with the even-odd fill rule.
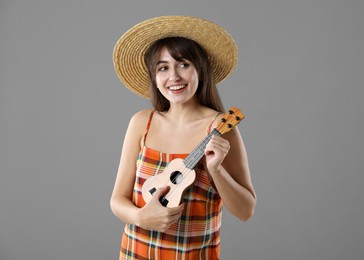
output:
[[[144,141],[152,116],[153,112]],[[147,178],[161,173],[173,159],[187,156],[162,153],[144,145],[137,160],[133,203],[137,207],[145,205],[141,189]],[[120,259],[219,259],[222,200],[212,187],[202,162],[195,171],[196,180],[184,195],[185,208],[180,219],[165,232],[126,224]]]

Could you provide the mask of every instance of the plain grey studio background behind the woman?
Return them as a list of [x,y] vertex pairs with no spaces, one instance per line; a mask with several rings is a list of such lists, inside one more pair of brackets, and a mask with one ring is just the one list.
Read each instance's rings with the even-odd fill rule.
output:
[[150,107],[112,49],[150,17],[225,27],[258,204],[225,211],[222,259],[363,259],[364,1],[0,2],[0,259],[117,259],[109,208],[128,120]]

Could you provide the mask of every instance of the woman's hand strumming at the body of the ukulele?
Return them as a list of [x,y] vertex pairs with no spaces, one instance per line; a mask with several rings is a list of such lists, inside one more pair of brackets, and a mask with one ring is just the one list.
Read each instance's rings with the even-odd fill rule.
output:
[[159,188],[153,195],[153,198],[139,210],[138,226],[144,229],[152,229],[159,232],[165,232],[169,227],[177,222],[182,214],[184,205],[167,208],[162,206],[159,199],[165,195],[169,187]]

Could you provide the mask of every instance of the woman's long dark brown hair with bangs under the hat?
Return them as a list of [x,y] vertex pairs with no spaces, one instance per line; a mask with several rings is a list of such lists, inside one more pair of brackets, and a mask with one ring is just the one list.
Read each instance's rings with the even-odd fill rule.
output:
[[183,37],[168,37],[158,40],[147,50],[144,56],[149,74],[150,99],[154,108],[163,112],[170,107],[169,101],[159,92],[155,80],[157,59],[163,47],[168,49],[169,54],[175,60],[186,59],[195,66],[199,77],[195,94],[197,101],[203,106],[223,112],[224,106],[214,83],[206,50],[195,41]]

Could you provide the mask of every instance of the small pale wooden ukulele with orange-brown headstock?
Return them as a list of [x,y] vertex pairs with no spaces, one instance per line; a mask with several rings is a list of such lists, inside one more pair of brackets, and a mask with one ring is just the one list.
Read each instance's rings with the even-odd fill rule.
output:
[[177,158],[172,160],[163,172],[149,177],[143,184],[142,195],[146,203],[148,203],[157,189],[169,186],[167,194],[159,199],[160,203],[168,208],[177,207],[181,203],[184,191],[189,188],[196,179],[195,166],[204,156],[207,143],[212,136],[222,136],[229,132],[244,118],[243,113],[235,107],[231,107],[214,128],[211,133],[206,136],[202,142],[187,156],[186,159]]

